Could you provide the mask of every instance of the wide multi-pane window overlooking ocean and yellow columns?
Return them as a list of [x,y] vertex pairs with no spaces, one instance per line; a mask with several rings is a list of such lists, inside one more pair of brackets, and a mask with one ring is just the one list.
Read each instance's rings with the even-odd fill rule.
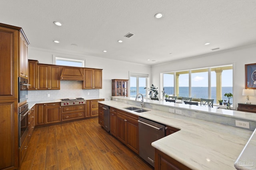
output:
[[218,103],[220,99],[227,99],[225,93],[232,93],[232,78],[232,65],[168,72],[163,74],[164,93],[192,97],[192,100],[196,101],[200,101],[200,98],[209,98]]

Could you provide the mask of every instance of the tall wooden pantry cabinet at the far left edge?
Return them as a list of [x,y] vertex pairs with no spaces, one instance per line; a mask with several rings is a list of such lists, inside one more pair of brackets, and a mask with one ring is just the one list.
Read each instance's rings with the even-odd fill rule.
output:
[[18,76],[27,74],[28,44],[21,27],[0,23],[0,169],[18,168]]

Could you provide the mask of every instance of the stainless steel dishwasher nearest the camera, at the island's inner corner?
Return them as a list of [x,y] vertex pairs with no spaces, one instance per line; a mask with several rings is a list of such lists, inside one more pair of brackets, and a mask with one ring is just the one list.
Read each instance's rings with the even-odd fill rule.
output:
[[139,117],[139,153],[146,162],[154,166],[155,149],[151,143],[161,139],[166,134],[165,125]]

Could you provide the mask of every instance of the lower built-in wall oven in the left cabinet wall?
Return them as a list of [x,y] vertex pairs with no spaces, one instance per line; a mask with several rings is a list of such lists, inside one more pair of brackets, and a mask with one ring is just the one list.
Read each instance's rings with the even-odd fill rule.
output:
[[28,104],[24,104],[19,107],[19,146],[21,147],[22,143],[28,135]]

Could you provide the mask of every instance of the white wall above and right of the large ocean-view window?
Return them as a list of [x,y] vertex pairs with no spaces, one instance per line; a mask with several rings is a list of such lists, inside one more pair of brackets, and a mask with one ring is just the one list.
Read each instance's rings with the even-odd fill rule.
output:
[[[245,88],[245,67],[244,64],[256,63],[256,44],[229,49],[219,52],[190,57],[189,59],[173,61],[152,66],[152,81],[160,87],[160,73],[218,66],[223,64],[234,64],[233,66],[233,102],[244,103],[246,96],[242,96],[242,89]],[[254,90],[256,95],[256,90]],[[256,103],[256,96],[250,96],[250,102]],[[236,108],[235,107],[235,108]],[[235,109],[234,108],[234,109]]]

